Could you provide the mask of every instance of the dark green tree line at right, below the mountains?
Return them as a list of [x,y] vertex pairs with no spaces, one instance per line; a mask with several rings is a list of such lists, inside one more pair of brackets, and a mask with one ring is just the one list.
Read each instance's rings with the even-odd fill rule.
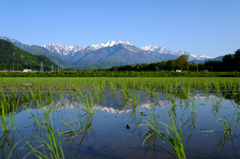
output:
[[240,71],[240,49],[235,54],[228,54],[223,57],[223,61],[207,61],[205,63],[192,63],[188,61],[187,55],[182,55],[174,60],[163,60],[159,62],[139,63],[124,66],[114,66],[109,71],[172,71],[172,70],[188,70],[188,71]]

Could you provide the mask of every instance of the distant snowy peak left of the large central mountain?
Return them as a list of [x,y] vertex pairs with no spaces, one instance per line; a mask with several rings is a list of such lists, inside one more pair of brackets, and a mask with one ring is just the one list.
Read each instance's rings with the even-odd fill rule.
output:
[[68,45],[61,45],[61,44],[47,44],[42,46],[52,52],[58,53],[65,57],[66,59],[71,58],[74,54],[78,51],[84,49],[82,46],[68,46]]

